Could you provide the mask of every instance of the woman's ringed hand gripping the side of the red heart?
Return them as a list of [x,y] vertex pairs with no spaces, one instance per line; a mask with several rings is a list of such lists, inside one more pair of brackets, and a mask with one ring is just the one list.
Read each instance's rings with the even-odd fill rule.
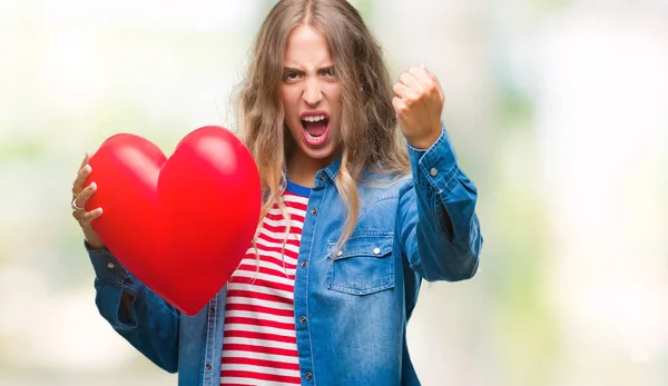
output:
[[90,182],[90,185],[84,187],[84,182],[86,182],[86,179],[92,171],[92,168],[88,165],[90,157],[91,155],[87,152],[72,185],[72,216],[79,222],[79,226],[84,230],[84,237],[86,237],[90,247],[92,249],[102,249],[105,248],[105,244],[91,226],[92,220],[102,215],[102,208],[95,208],[90,211],[86,211],[85,209],[86,202],[97,190],[95,182]]

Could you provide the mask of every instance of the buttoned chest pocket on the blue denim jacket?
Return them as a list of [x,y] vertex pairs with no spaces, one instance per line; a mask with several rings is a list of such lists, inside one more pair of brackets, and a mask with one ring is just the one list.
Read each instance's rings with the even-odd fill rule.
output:
[[[327,287],[332,290],[370,295],[394,287],[394,235],[355,235],[332,256]],[[328,241],[330,253],[336,240]]]

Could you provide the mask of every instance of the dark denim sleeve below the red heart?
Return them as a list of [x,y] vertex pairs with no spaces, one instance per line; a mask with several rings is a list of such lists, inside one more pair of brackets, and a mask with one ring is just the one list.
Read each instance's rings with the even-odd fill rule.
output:
[[[96,305],[111,327],[153,363],[178,368],[179,311],[134,277],[107,249],[86,249],[96,273]],[[121,298],[129,296],[128,313]]]

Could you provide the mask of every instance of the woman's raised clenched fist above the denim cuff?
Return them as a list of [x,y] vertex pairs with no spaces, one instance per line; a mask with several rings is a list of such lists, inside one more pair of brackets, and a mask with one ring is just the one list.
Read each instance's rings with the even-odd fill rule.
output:
[[393,87],[392,106],[402,132],[418,149],[429,149],[441,136],[443,91],[436,76],[421,65],[411,67]]

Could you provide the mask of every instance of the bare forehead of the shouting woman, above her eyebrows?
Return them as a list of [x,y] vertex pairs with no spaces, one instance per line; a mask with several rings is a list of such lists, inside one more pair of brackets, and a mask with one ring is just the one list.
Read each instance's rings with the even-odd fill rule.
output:
[[327,39],[321,31],[299,26],[289,33],[285,50],[286,66],[317,67],[331,62]]

